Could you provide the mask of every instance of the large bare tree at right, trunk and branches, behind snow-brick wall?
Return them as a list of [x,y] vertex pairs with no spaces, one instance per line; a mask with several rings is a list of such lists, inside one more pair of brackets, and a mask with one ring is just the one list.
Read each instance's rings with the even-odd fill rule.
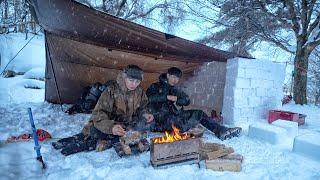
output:
[[224,43],[247,55],[257,42],[266,41],[294,54],[294,100],[307,103],[309,57],[320,44],[319,1],[191,0],[186,4],[190,14],[212,29],[202,42]]

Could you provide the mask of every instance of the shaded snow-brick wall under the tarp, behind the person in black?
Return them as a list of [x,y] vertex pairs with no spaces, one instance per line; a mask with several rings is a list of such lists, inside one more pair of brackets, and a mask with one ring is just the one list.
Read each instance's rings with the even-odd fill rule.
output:
[[222,111],[226,78],[226,62],[210,62],[199,67],[193,76],[182,84],[191,100],[186,109],[202,109],[210,114],[212,109]]

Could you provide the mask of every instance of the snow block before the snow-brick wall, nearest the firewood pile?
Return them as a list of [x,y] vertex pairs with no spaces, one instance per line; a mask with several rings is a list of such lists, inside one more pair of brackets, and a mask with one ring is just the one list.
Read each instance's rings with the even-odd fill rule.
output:
[[249,126],[248,136],[270,144],[278,144],[287,137],[287,132],[282,127],[257,122]]

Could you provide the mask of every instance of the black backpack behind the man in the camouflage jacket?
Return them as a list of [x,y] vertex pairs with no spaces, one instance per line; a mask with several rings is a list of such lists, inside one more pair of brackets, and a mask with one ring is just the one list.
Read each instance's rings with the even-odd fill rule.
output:
[[102,92],[111,84],[116,83],[115,80],[109,80],[104,84],[99,82],[94,83],[84,89],[80,99],[72,105],[65,113],[76,114],[76,113],[92,113],[92,110],[96,106]]

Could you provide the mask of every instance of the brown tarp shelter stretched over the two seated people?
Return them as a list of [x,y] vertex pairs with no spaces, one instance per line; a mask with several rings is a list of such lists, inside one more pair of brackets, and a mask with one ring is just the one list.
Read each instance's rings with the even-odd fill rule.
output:
[[204,62],[235,54],[162,33],[91,9],[73,0],[28,0],[45,30],[45,100],[73,103],[84,87],[106,82],[128,64],[145,72],[147,88],[169,67],[185,77]]

